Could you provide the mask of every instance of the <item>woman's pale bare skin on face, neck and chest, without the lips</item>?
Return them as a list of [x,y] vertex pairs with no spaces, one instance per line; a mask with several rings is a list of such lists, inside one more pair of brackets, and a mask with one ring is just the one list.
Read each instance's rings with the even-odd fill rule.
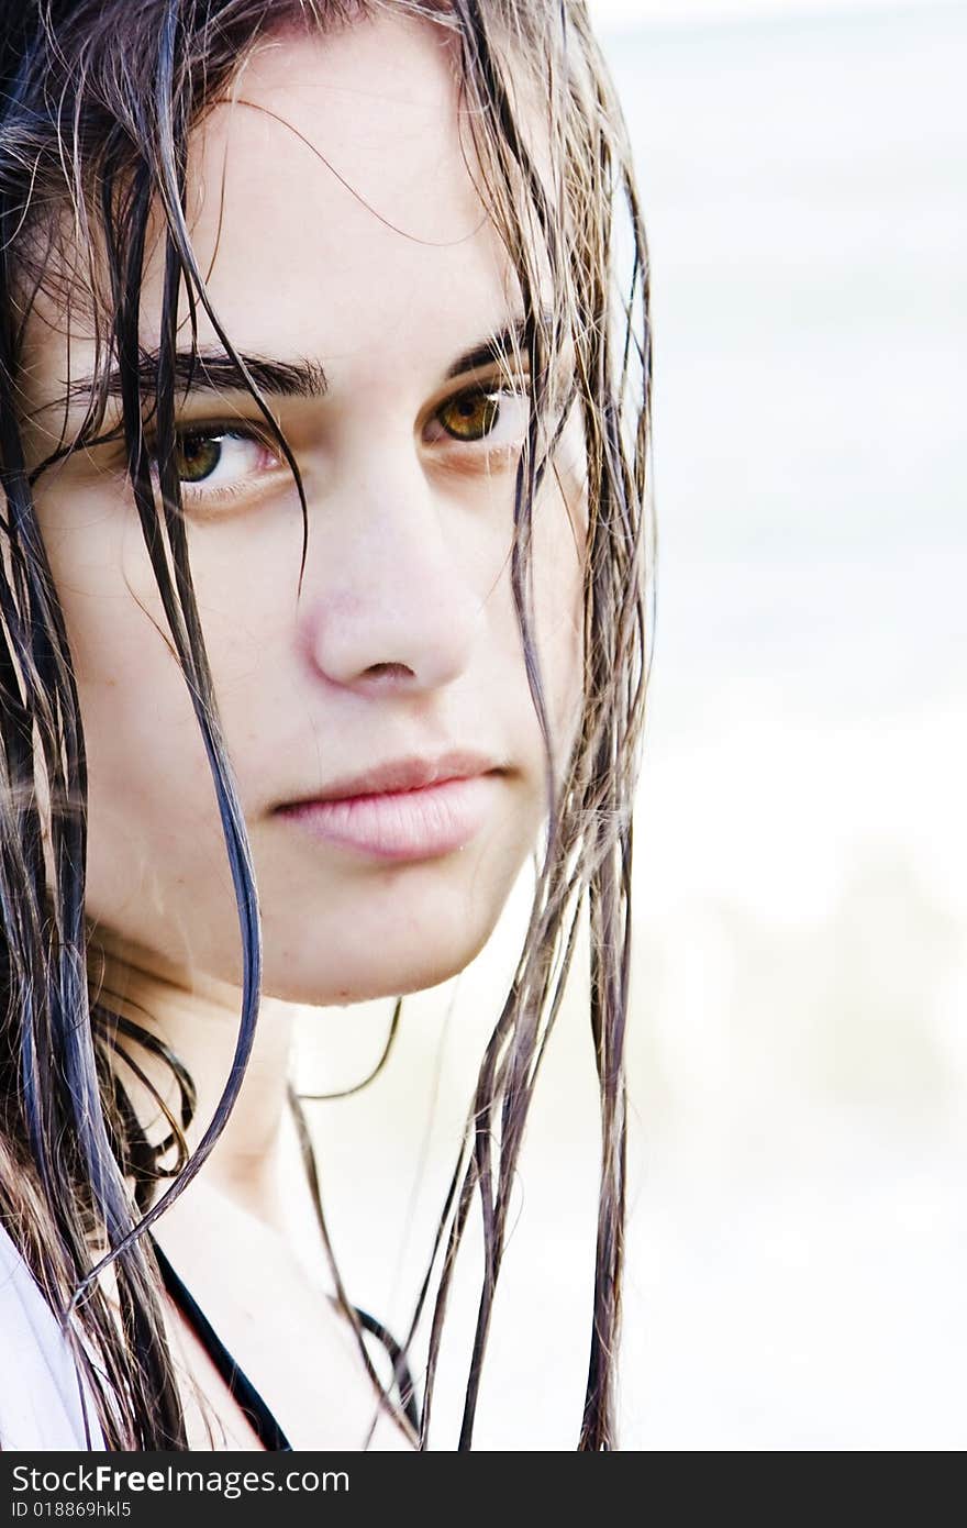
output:
[[[501,394],[480,440],[441,423],[467,385],[498,387],[493,365],[448,371],[518,312],[460,156],[435,31],[382,17],[325,40],[270,40],[235,93],[194,145],[199,264],[241,351],[309,359],[327,388],[272,399],[309,495],[301,599],[298,500],[284,463],[244,437],[254,405],[209,393],[183,406],[192,428],[211,426],[202,445],[217,458],[183,494],[260,888],[266,998],[232,1118],[157,1241],[293,1445],[359,1449],[373,1387],[327,1299],[286,1111],[292,1004],[342,1007],[448,979],[489,938],[538,840],[544,747],[509,582],[522,391]],[[148,348],[160,269],[156,252]],[[215,341],[205,319],[199,338]],[[29,330],[37,458],[60,428],[50,405],[92,364],[82,315],[69,325],[41,299]],[[121,1012],[192,1074],[197,1141],[237,1036],[238,924],[197,724],[113,449],[47,474],[38,512],[89,747],[92,950]],[[581,698],[582,516],[568,481],[565,471],[544,492],[533,547],[558,769]],[[486,766],[480,824],[451,851],[390,862],[319,842],[278,810],[347,773],[448,749]],[[170,1322],[186,1397],[197,1384],[225,1429],[208,1441],[192,1410],[192,1447],[257,1447],[174,1309]],[[373,1447],[406,1445],[383,1420]]]

